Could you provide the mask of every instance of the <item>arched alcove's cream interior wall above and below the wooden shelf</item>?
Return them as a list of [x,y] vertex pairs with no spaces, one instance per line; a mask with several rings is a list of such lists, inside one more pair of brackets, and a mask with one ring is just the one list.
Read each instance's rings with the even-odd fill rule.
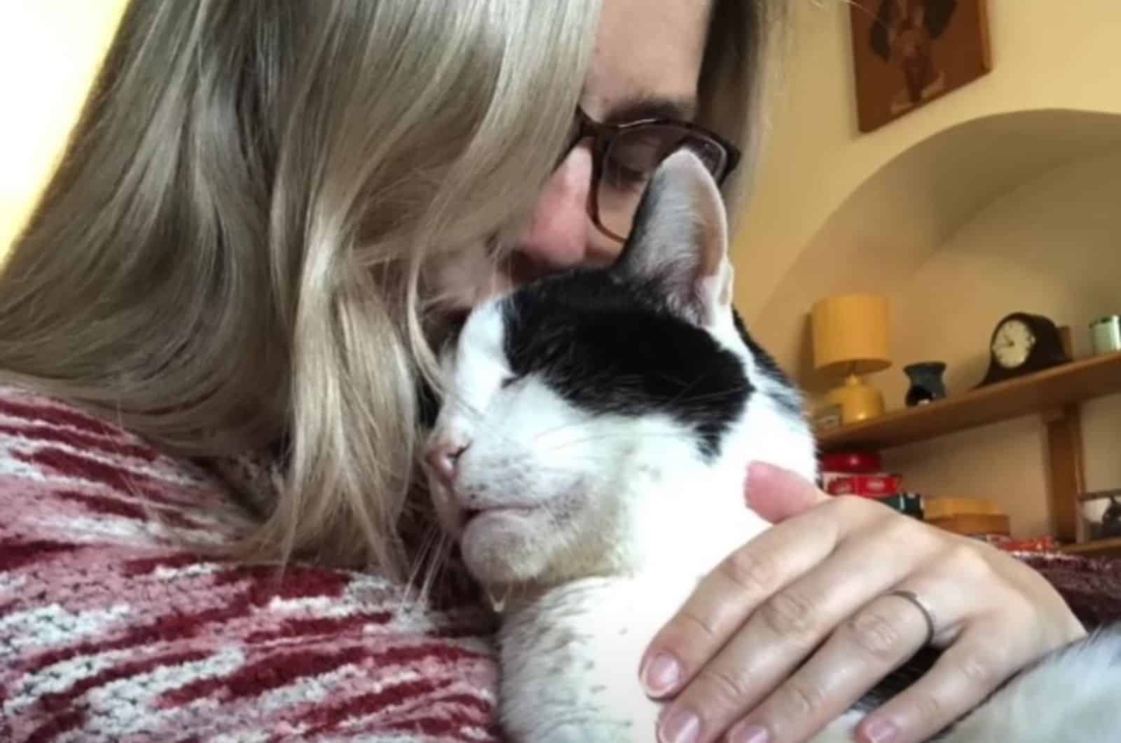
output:
[[[828,294],[872,290],[891,306],[893,367],[869,380],[902,406],[901,367],[948,364],[951,394],[983,376],[988,341],[1008,312],[1072,328],[1121,313],[1121,116],[1037,110],[938,132],[879,168],[816,230],[753,332],[813,394],[835,384],[810,370],[807,313]],[[998,502],[1019,535],[1049,531],[1039,421],[1008,421],[886,452],[907,485]],[[1083,409],[1085,484],[1121,484],[1121,396]]]

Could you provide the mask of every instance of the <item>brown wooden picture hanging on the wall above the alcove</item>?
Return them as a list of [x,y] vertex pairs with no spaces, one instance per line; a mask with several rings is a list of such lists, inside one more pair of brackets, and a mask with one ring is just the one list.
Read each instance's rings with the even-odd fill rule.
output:
[[861,131],[878,129],[992,70],[986,3],[850,2]]

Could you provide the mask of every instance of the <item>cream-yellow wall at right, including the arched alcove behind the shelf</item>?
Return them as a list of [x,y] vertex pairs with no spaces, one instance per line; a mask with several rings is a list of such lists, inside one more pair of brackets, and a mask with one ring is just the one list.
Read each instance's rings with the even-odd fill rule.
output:
[[[861,0],[869,2],[870,0]],[[1121,3],[989,0],[994,70],[874,132],[856,131],[849,10],[796,0],[794,55],[758,198],[736,240],[736,301],[810,392],[806,313],[826,294],[891,300],[895,367],[870,377],[900,407],[901,366],[980,380],[995,322],[1043,312],[1088,352],[1121,313]],[[1048,530],[1034,419],[889,451],[908,486],[1000,502],[1013,531]],[[1091,489],[1121,486],[1121,397],[1084,411]]]

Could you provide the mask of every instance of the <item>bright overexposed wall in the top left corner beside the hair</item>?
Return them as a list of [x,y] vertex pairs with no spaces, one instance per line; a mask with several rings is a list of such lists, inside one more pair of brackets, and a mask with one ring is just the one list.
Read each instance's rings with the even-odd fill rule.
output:
[[0,0],[0,259],[56,162],[126,0]]

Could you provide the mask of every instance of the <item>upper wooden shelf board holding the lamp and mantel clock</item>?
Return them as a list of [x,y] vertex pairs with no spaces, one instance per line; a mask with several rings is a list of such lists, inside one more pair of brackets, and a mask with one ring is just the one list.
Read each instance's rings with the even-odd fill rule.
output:
[[823,451],[886,449],[1115,393],[1121,393],[1121,354],[1108,354],[822,431],[817,439]]

